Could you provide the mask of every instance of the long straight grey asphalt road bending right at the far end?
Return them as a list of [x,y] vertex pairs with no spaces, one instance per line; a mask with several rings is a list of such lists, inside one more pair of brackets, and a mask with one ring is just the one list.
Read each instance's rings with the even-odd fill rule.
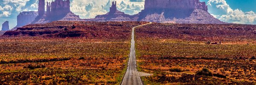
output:
[[[148,23],[148,24],[151,24],[151,23]],[[147,24],[144,24],[141,26],[145,26],[145,25]],[[130,57],[128,61],[127,71],[125,73],[125,76],[123,77],[121,85],[144,85],[137,71],[137,63],[136,63],[136,57],[135,57],[134,29],[137,27],[139,26],[132,28]]]

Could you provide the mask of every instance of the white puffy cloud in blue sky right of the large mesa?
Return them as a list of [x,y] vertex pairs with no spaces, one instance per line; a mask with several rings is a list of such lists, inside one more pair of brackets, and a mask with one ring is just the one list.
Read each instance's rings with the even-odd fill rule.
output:
[[225,0],[209,0],[209,7],[215,7],[217,10],[224,11],[224,14],[212,14],[221,21],[228,23],[252,24],[256,21],[256,13],[253,11],[244,12],[239,9],[232,9]]

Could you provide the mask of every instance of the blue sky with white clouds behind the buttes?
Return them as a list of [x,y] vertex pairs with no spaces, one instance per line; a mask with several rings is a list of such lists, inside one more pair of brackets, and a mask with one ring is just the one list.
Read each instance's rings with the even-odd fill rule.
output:
[[[52,1],[52,0],[46,0]],[[80,18],[94,18],[109,11],[114,0],[70,0],[70,10]],[[144,9],[145,0],[115,0],[117,9],[126,14],[137,14]],[[200,0],[206,2],[212,16],[227,23],[256,24],[256,0]],[[9,21],[10,29],[17,25],[22,11],[37,11],[38,0],[0,0],[0,30]]]

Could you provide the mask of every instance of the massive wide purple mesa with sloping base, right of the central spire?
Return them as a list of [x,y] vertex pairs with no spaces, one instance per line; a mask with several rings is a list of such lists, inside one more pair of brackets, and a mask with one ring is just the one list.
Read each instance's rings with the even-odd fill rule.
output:
[[145,9],[136,16],[138,21],[157,23],[224,23],[210,15],[206,3],[199,0],[145,0]]

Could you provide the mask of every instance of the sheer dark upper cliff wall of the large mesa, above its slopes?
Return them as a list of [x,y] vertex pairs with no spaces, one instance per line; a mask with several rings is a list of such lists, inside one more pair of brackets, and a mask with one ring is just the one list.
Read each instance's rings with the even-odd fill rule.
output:
[[166,18],[186,18],[196,9],[208,11],[205,2],[199,0],[145,0],[145,9],[139,19],[155,13],[164,13]]

